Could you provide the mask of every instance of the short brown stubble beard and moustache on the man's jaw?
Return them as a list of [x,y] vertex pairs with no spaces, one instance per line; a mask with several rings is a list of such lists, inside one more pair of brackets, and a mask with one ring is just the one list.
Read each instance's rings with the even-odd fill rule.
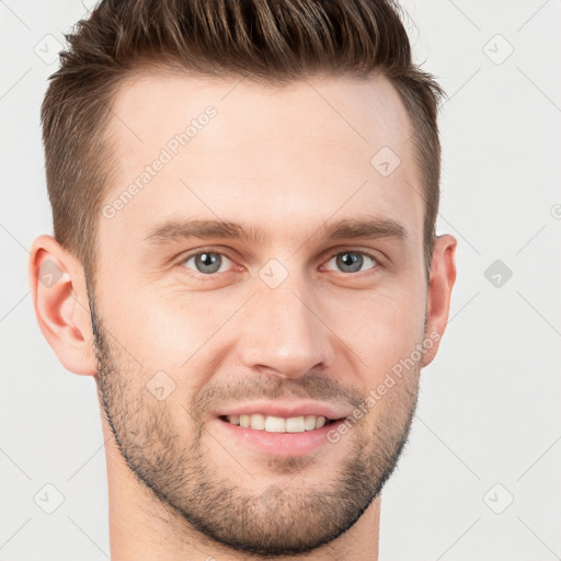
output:
[[[91,306],[93,301],[91,301]],[[332,451],[332,444],[310,458],[268,457],[263,461],[267,472],[289,478],[286,484],[273,485],[268,501],[264,492],[272,485],[249,491],[240,489],[222,476],[218,466],[205,458],[204,412],[216,398],[236,399],[243,391],[270,399],[290,396],[336,397],[334,386],[321,375],[288,383],[277,379],[265,388],[262,380],[251,380],[244,387],[213,388],[192,400],[190,420],[194,427],[191,442],[174,434],[174,421],[162,402],[150,400],[145,383],[146,373],[110,343],[101,319],[95,317],[94,334],[99,371],[96,376],[100,402],[118,449],[136,479],[150,489],[157,500],[176,517],[178,527],[198,533],[204,540],[219,542],[233,550],[256,556],[296,556],[325,546],[348,530],[378,496],[393,472],[409,437],[416,408],[419,370],[400,380],[407,385],[399,392],[389,392],[383,416],[378,417],[374,434],[368,434],[369,415],[365,415],[342,438],[354,438],[347,454],[333,463],[329,484],[318,478],[310,485],[310,471]],[[304,380],[304,381],[302,381]],[[301,382],[301,383],[300,383]],[[230,391],[231,390],[231,391]],[[239,392],[242,393],[239,393]],[[341,392],[341,389],[339,390]],[[350,390],[345,399],[357,405],[363,396]],[[379,405],[378,405],[379,407]],[[383,411],[383,410],[382,410]],[[187,412],[185,412],[187,414]],[[308,467],[308,470],[307,470]],[[307,489],[299,489],[299,474],[306,473]],[[231,477],[231,476],[230,476]],[[278,479],[277,479],[278,481]],[[225,515],[228,513],[228,515]],[[185,536],[188,539],[188,536]]]

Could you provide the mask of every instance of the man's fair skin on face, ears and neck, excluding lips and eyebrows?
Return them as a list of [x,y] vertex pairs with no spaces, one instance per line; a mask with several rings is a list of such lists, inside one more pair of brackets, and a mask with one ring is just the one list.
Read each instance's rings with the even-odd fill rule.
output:
[[[456,240],[435,239],[427,282],[411,122],[382,77],[265,89],[139,72],[114,100],[107,138],[118,157],[104,203],[208,105],[209,124],[113,218],[100,216],[95,287],[51,237],[32,248],[41,329],[66,368],[98,382],[112,559],[376,560],[381,488],[446,327]],[[389,176],[370,164],[383,146],[401,160]],[[405,236],[322,234],[366,215]],[[265,239],[147,243],[171,218],[239,221]],[[197,276],[203,263],[185,254],[203,250],[222,262]],[[260,277],[272,259],[287,274],[277,287]],[[49,287],[47,261],[61,272]],[[234,443],[216,419],[257,397],[352,412],[407,357],[413,366],[367,414],[304,457]],[[174,390],[160,401],[147,385],[161,371]]]

